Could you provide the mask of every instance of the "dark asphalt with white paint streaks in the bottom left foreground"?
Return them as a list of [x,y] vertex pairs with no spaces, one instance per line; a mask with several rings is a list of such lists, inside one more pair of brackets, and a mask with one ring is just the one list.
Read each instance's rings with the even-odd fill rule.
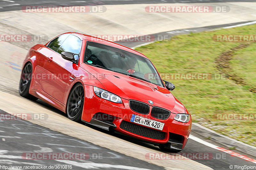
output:
[[[1,166],[49,167],[72,165],[72,169],[163,169],[163,167],[128,157],[118,152],[61,134],[25,120],[4,120],[3,117],[6,116],[11,117],[10,114],[0,110]],[[42,159],[38,154],[42,152],[58,153],[60,159]],[[38,155],[33,155],[32,153],[37,153]],[[84,154],[86,156],[79,156],[77,158],[82,158],[82,160],[78,160],[74,155],[73,157],[71,155],[69,158],[73,160],[65,160],[61,159],[63,153],[76,153],[76,155]],[[33,160],[22,157],[26,154],[31,154],[31,157],[29,156],[28,158],[33,158]],[[63,155],[63,157],[64,156],[65,155]],[[51,157],[49,159],[51,159]],[[0,167],[0,169],[4,168]],[[22,167],[16,169],[25,168]]]

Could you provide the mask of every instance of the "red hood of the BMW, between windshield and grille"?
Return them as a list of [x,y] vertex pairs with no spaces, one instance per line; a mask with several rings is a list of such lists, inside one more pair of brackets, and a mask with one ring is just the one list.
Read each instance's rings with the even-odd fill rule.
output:
[[87,66],[90,67],[89,72],[92,75],[100,75],[95,77],[107,91],[123,99],[138,100],[147,104],[148,100],[152,100],[154,104],[151,106],[162,107],[176,114],[185,113],[185,107],[164,87],[110,70]]

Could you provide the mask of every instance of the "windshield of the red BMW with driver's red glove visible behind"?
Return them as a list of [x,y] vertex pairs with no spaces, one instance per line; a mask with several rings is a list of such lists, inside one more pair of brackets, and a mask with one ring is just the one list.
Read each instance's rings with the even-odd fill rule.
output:
[[163,87],[162,80],[150,60],[119,48],[87,41],[84,63],[146,79]]

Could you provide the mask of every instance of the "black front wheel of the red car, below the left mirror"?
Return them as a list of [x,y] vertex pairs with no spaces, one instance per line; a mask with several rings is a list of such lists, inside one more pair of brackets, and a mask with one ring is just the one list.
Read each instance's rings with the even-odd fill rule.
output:
[[67,115],[68,119],[81,122],[84,106],[84,87],[82,84],[76,85],[68,96]]

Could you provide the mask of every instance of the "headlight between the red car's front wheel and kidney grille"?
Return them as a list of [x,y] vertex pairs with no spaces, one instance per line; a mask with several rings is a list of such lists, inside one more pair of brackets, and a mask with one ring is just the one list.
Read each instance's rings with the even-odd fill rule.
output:
[[109,100],[109,101],[112,101],[112,102],[115,102],[115,103],[122,103],[121,98],[119,96],[111,93],[111,92],[100,89],[98,87],[93,87],[93,91],[96,94],[96,96],[98,96],[102,99]]

